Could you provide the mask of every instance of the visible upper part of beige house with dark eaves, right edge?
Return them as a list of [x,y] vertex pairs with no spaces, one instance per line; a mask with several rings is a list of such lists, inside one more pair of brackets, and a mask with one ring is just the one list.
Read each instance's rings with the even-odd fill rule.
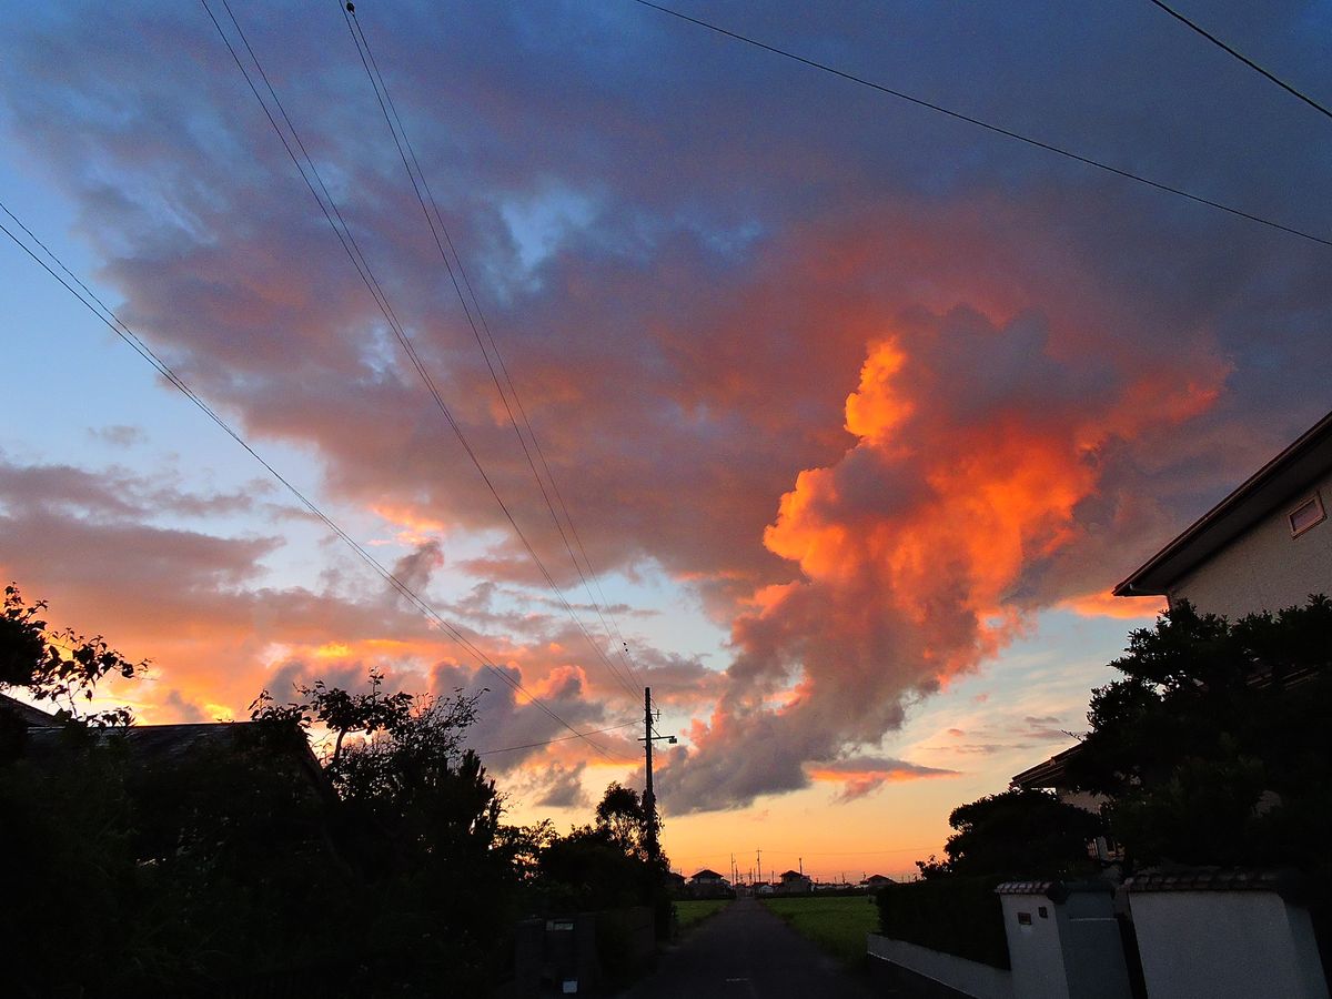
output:
[[1332,585],[1332,413],[1115,587],[1239,618]]

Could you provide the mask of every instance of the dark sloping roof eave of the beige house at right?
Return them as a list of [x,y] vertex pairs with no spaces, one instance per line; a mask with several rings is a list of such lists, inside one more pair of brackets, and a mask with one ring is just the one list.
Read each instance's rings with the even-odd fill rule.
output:
[[1257,523],[1273,507],[1332,469],[1332,413],[1305,430],[1233,493],[1197,518],[1114,589],[1116,597],[1166,595],[1195,566]]

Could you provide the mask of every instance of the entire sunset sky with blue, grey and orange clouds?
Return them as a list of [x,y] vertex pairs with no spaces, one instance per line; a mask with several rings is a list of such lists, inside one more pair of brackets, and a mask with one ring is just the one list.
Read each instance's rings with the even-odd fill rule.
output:
[[[1332,238],[1332,121],[1147,0],[677,9]],[[1180,9],[1332,103],[1332,4]],[[675,867],[910,872],[1332,406],[1328,245],[633,0],[0,15],[0,222],[360,546],[0,238],[0,575],[143,722],[481,693],[566,829],[651,686]]]

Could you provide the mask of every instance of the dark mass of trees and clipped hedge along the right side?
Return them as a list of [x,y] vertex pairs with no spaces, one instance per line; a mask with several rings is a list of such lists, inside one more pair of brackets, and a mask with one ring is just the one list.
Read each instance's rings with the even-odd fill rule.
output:
[[[1180,601],[1131,633],[1064,766],[1100,814],[1012,789],[962,805],[946,859],[879,895],[884,934],[1003,966],[1003,880],[1183,866],[1293,868],[1320,936],[1332,899],[1332,601],[1228,621]],[[1122,848],[1110,864],[1088,843]],[[991,939],[992,938],[992,939]],[[988,943],[984,943],[988,940]]]

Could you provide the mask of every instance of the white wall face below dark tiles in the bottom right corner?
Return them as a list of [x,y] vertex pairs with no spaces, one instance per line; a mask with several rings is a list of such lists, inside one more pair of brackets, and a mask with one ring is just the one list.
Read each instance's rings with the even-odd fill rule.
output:
[[1130,894],[1151,999],[1327,999],[1305,910],[1269,891]]

